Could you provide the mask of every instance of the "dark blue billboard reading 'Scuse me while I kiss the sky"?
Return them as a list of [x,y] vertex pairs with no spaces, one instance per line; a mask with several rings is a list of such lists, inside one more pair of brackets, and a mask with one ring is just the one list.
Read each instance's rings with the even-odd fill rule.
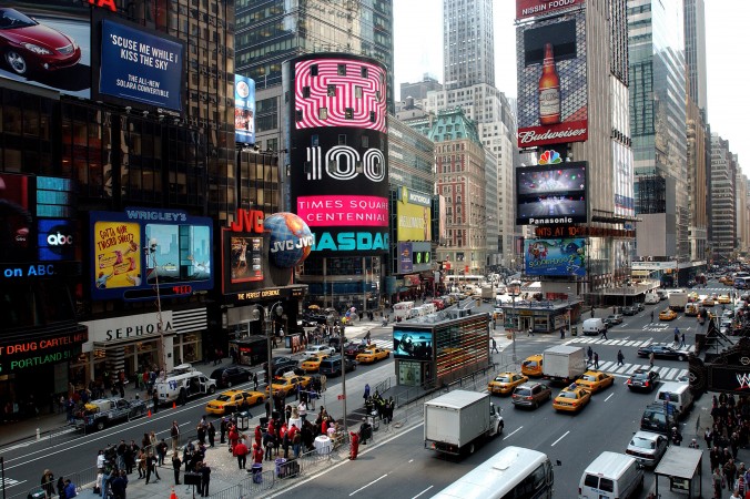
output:
[[101,93],[182,110],[182,44],[103,20],[101,55]]

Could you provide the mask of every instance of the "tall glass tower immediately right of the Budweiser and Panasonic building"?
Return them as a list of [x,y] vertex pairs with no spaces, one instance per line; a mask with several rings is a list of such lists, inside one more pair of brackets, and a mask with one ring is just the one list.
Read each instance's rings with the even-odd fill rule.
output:
[[[637,255],[690,269],[681,0],[628,0]],[[673,213],[672,213],[673,207]],[[659,241],[656,241],[659,240]]]

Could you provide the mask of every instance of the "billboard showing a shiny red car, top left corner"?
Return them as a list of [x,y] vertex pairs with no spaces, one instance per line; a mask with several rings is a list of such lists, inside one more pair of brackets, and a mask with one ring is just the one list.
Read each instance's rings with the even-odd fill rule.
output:
[[91,8],[0,0],[0,78],[91,96]]

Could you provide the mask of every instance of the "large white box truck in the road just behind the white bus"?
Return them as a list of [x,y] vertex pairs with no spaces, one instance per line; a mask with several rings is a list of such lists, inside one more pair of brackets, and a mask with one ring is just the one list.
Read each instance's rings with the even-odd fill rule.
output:
[[425,448],[473,454],[485,438],[503,432],[500,410],[489,394],[454,390],[425,403]]

